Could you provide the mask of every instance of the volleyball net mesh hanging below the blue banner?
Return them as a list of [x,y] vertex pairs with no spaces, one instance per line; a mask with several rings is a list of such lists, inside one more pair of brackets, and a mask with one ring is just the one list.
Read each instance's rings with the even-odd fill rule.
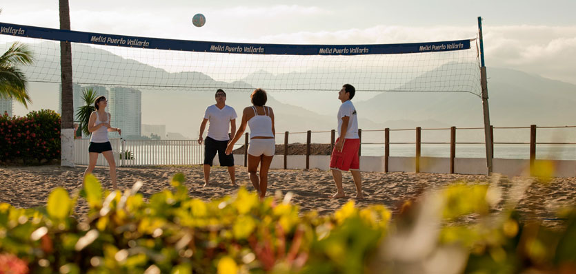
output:
[[[0,50],[26,43],[30,82],[60,83],[57,41],[0,35]],[[353,56],[230,54],[72,43],[73,82],[151,90],[327,91],[481,94],[477,45],[469,50]]]

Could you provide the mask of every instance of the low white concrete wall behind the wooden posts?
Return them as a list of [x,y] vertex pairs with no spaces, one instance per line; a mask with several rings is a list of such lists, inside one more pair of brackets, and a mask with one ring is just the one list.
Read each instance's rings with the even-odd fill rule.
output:
[[[217,162],[215,158],[215,164]],[[244,155],[234,156],[236,165],[244,165]],[[288,156],[288,169],[306,169],[306,156]],[[576,161],[574,160],[550,160],[555,167],[556,177],[576,177]],[[494,159],[493,171],[506,176],[528,176],[530,162],[526,159]],[[310,169],[329,170],[330,156],[310,156]],[[277,155],[272,160],[271,169],[284,168],[284,156]],[[360,170],[364,172],[384,172],[384,156],[360,156]],[[414,172],[414,157],[390,157],[388,158],[388,171],[390,172]],[[483,158],[455,158],[454,172],[458,174],[484,175],[486,160]],[[423,173],[449,173],[450,158],[420,158],[420,172]]]

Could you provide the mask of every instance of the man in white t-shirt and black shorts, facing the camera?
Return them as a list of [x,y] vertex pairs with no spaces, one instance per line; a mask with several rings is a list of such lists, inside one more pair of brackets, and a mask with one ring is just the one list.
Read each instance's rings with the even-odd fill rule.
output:
[[[216,104],[206,108],[204,119],[200,125],[200,136],[198,138],[200,145],[204,143],[204,187],[210,183],[210,167],[212,167],[212,160],[214,160],[217,152],[220,166],[228,167],[230,181],[232,185],[236,185],[234,156],[232,154],[226,155],[226,147],[230,141],[230,136],[236,134],[236,118],[236,111],[226,105],[226,92],[218,89],[216,91]],[[210,121],[208,134],[206,134],[206,140],[203,140],[202,134],[208,121]],[[232,128],[231,134],[228,133],[230,127]]]

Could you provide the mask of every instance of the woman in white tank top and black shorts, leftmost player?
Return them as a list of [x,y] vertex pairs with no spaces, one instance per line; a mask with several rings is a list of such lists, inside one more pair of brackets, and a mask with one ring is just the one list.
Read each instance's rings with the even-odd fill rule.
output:
[[122,134],[122,131],[117,127],[110,127],[110,114],[104,111],[106,105],[108,105],[108,100],[106,100],[106,97],[99,96],[96,98],[96,101],[94,102],[96,111],[90,114],[90,120],[88,120],[88,131],[91,133],[90,147],[88,147],[90,162],[88,163],[86,171],[84,171],[83,180],[86,180],[86,175],[88,175],[88,173],[92,173],[92,170],[94,170],[94,167],[96,167],[98,154],[102,154],[110,166],[110,178],[112,179],[112,187],[117,189],[116,162],[114,160],[114,154],[112,154],[112,145],[110,145],[110,140],[108,140],[108,131],[117,131],[118,134]]

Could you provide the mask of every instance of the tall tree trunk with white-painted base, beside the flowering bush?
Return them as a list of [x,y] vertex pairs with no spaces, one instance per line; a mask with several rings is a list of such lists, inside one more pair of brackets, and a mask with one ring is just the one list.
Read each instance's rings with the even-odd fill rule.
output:
[[[70,30],[70,5],[68,0],[59,0],[60,29]],[[60,165],[74,167],[74,105],[72,92],[72,45],[60,42],[60,68],[62,79],[61,116],[61,162]]]

